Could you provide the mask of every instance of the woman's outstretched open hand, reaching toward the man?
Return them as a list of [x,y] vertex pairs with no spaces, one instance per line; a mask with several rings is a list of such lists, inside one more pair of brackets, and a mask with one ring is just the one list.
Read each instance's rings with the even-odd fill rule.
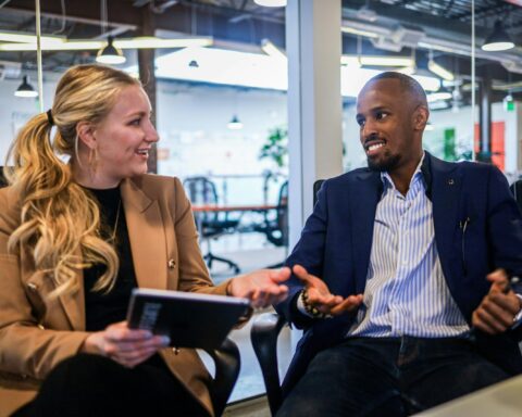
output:
[[288,287],[282,285],[290,278],[287,267],[276,269],[260,269],[253,273],[232,278],[228,283],[228,294],[250,299],[252,307],[266,307],[281,303],[288,295]]

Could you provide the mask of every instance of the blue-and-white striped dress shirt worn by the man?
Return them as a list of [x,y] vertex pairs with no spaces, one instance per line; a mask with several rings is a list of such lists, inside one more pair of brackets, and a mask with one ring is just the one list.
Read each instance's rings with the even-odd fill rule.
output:
[[444,279],[421,164],[406,197],[381,175],[363,304],[348,337],[447,338],[470,330]]

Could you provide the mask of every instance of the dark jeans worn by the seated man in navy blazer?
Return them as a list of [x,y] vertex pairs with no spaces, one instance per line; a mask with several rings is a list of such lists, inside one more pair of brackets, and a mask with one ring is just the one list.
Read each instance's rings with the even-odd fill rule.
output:
[[407,416],[507,378],[463,339],[347,339],[311,361],[277,417]]

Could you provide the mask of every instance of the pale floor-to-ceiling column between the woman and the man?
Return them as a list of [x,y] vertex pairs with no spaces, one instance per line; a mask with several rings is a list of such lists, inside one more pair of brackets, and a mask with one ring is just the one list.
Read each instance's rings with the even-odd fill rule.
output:
[[316,179],[343,172],[340,0],[288,0],[289,245],[312,212]]

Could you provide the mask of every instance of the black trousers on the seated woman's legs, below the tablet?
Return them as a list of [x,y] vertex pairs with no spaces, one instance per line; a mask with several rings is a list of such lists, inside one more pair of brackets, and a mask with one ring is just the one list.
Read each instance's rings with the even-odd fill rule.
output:
[[198,416],[208,412],[159,356],[129,369],[98,355],[60,363],[13,417]]

